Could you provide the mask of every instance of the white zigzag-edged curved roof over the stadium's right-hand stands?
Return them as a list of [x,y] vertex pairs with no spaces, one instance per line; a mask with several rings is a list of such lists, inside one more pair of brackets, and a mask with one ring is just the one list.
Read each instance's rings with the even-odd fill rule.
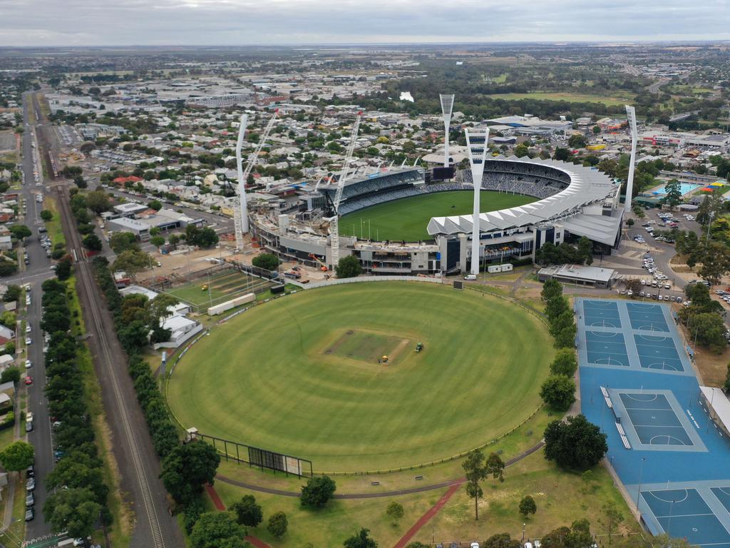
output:
[[[593,170],[590,167],[569,164],[564,161],[518,158],[516,156],[510,156],[510,158],[496,156],[487,161],[491,160],[521,164],[538,164],[553,168],[569,175],[570,183],[566,189],[559,191],[557,194],[553,194],[553,196],[541,199],[538,202],[520,205],[515,208],[481,213],[479,216],[480,232],[525,227],[561,217],[577,216],[581,213],[583,206],[612,197],[618,188],[612,179],[604,173]],[[487,173],[488,170],[485,168],[485,175]],[[518,173],[515,172],[515,174]],[[585,229],[590,228],[585,227]],[[458,234],[461,232],[468,234],[472,232],[472,216],[433,217],[429,221],[428,229],[430,235]]]

